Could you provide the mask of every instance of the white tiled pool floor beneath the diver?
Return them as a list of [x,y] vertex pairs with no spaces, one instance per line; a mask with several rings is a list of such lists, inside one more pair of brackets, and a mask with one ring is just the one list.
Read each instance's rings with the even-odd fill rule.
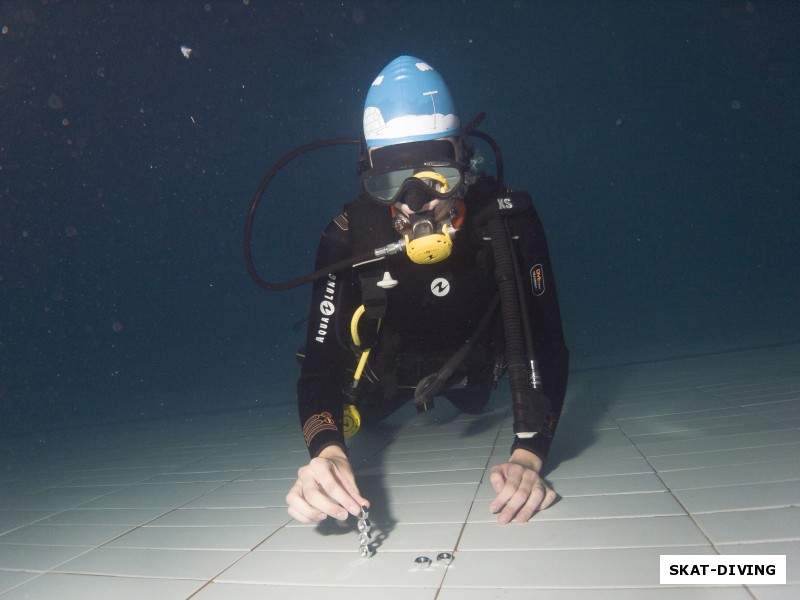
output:
[[[358,434],[377,554],[291,521],[288,404],[2,442],[0,598],[774,600],[800,597],[800,346],[571,378],[531,522],[489,514],[510,420],[444,401]],[[414,566],[451,551],[449,567]],[[785,554],[786,586],[666,587],[661,554]]]

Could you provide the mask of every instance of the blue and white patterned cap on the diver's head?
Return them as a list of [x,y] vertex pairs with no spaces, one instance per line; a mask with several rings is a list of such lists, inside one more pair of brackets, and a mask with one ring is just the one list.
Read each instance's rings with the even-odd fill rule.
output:
[[460,131],[455,102],[442,76],[419,58],[398,56],[367,92],[367,148],[457,137]]

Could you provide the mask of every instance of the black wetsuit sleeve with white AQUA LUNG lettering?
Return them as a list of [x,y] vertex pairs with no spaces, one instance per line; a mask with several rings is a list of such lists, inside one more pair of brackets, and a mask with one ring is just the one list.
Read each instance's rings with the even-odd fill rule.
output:
[[[317,248],[315,269],[351,256],[346,216],[334,219]],[[314,282],[305,357],[297,382],[300,426],[314,458],[326,446],[345,451],[342,426],[343,389],[355,358],[349,345],[350,318],[358,305],[358,279],[352,272],[331,273]]]

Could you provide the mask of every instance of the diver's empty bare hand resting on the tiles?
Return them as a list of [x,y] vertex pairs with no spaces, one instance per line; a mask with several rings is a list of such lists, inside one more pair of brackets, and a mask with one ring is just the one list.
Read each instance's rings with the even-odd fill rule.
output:
[[497,522],[509,523],[514,515],[525,523],[533,513],[544,510],[556,499],[556,493],[539,476],[542,461],[536,455],[517,448],[507,463],[492,467],[490,481],[497,496],[489,505],[500,513]]

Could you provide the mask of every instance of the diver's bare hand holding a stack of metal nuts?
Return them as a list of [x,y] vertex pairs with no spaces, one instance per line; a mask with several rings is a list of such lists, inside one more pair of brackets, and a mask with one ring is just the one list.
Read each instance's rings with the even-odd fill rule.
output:
[[297,471],[297,481],[286,494],[289,516],[301,523],[333,517],[343,521],[349,512],[361,514],[369,500],[361,495],[347,455],[339,446],[328,446]]

